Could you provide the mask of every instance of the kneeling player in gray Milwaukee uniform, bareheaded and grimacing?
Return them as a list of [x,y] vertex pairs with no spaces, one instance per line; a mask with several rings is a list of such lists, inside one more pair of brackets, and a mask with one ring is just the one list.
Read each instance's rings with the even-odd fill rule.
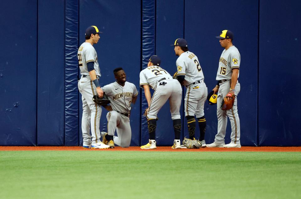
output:
[[[116,81],[103,87],[103,91],[111,101],[112,110],[108,112],[108,133],[101,132],[103,143],[115,148],[129,147],[131,143],[131,126],[129,124],[130,111],[135,104],[138,91],[133,83],[126,81],[126,74],[122,68],[114,69]],[[114,136],[117,130],[117,136]]]

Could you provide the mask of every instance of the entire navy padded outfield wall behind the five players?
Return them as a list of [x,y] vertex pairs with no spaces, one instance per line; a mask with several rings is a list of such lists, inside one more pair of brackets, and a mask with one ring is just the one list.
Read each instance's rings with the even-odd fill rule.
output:
[[[114,68],[123,67],[127,81],[140,91],[130,117],[131,146],[146,144],[149,138],[139,73],[150,56],[160,56],[161,66],[175,73],[177,56],[169,45],[185,38],[189,50],[199,58],[210,92],[223,51],[215,36],[227,29],[233,31],[233,44],[241,54],[241,144],[301,146],[300,1],[229,0],[229,6],[217,5],[224,1],[3,1],[0,145],[82,145],[77,49],[85,41],[86,28],[96,25],[103,32],[94,45],[102,73],[100,85],[114,82]],[[183,96],[185,93],[183,88]],[[188,136],[183,104],[182,99],[181,140]],[[216,108],[205,103],[207,143],[214,141],[217,132]],[[100,130],[107,131],[107,111],[102,112]],[[174,132],[168,103],[158,117],[157,144],[171,146]],[[197,126],[196,137],[198,131]],[[230,121],[225,142],[230,142]]]

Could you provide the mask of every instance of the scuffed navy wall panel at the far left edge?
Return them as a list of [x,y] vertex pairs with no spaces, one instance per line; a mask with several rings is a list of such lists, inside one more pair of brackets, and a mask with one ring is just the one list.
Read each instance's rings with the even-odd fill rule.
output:
[[0,145],[36,145],[37,1],[3,1],[0,13]]

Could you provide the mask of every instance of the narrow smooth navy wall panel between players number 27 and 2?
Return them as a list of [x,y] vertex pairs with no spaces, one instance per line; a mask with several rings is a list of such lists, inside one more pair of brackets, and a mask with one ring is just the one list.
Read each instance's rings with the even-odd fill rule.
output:
[[[175,55],[174,47],[170,45],[177,38],[183,37],[183,6],[184,0],[176,3],[172,0],[156,2],[156,55],[161,57],[161,67],[171,75],[177,71],[176,60],[178,56]],[[183,121],[182,111],[181,106],[180,113]],[[159,111],[158,118],[156,142],[159,146],[172,146],[175,133],[168,101]]]

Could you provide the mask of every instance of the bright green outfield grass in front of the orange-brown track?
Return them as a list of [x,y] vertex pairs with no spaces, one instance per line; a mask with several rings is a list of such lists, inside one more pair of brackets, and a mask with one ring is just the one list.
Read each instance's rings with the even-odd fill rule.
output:
[[0,151],[0,198],[300,198],[298,152]]

